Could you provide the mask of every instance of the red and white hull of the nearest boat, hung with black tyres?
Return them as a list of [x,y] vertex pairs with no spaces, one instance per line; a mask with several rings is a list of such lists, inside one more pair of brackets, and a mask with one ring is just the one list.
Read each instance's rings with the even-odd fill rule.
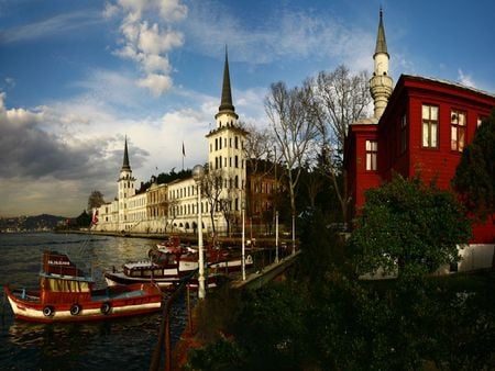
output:
[[92,292],[90,301],[43,303],[40,292],[4,286],[15,318],[37,322],[88,322],[134,316],[160,311],[163,293],[152,284],[108,288]]

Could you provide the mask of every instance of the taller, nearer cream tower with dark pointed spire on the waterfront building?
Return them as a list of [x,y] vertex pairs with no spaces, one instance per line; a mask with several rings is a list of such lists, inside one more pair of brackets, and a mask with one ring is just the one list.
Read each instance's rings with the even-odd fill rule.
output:
[[206,135],[209,171],[213,171],[217,179],[221,178],[220,200],[229,200],[232,214],[238,214],[245,200],[244,142],[248,133],[238,124],[239,116],[232,104],[227,47],[221,102],[215,119],[216,128]]

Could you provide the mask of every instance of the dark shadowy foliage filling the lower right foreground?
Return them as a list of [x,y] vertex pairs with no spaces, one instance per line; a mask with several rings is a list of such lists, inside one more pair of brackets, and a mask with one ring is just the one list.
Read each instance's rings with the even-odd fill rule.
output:
[[191,369],[495,369],[495,272],[361,281],[327,222],[316,212],[300,224],[287,280],[213,296],[205,319],[230,317],[219,327],[232,336],[195,351]]

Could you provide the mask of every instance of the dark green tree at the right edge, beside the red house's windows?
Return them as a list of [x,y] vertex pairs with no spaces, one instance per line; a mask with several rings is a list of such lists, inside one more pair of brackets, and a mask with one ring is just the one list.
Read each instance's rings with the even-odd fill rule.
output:
[[477,127],[473,140],[462,153],[452,179],[466,209],[479,218],[494,218],[495,213],[495,109]]

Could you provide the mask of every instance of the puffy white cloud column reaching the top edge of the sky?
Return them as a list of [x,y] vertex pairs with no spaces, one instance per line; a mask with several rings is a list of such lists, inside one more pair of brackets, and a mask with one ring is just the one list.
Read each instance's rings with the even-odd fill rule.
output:
[[106,19],[121,15],[122,46],[114,54],[140,66],[144,76],[136,83],[154,97],[173,87],[168,53],[184,44],[183,33],[173,25],[187,12],[179,0],[119,0],[103,10]]

